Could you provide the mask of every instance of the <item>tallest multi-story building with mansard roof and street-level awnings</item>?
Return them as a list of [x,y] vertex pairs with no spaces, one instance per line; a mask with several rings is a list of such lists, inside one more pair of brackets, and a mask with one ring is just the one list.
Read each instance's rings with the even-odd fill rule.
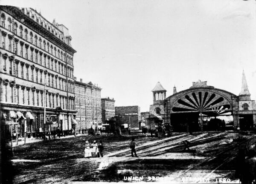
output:
[[44,124],[45,104],[55,122],[52,129],[70,130],[76,115],[76,51],[68,29],[32,8],[0,6],[0,15],[1,122],[16,126],[19,136],[24,131],[36,136],[49,130]]

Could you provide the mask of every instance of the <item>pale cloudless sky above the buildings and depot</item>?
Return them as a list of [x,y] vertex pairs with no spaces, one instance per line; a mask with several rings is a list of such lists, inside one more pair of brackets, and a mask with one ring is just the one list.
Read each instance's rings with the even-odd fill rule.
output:
[[115,106],[148,111],[160,82],[172,95],[192,82],[239,95],[244,69],[256,99],[255,0],[0,0],[64,24],[74,76],[102,88]]

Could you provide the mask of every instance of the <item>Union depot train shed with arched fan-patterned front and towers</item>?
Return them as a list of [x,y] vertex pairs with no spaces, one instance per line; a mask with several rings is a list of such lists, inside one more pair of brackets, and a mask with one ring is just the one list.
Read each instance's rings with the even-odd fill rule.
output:
[[244,71],[238,96],[201,80],[192,82],[192,86],[183,91],[177,92],[174,87],[173,94],[167,98],[160,82],[152,92],[149,116],[162,118],[174,131],[255,130],[256,103],[250,98]]

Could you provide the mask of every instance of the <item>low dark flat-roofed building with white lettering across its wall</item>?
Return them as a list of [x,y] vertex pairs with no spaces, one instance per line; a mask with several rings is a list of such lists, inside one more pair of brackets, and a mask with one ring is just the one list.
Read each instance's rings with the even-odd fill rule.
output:
[[141,115],[139,106],[116,107],[116,115],[122,116],[121,125],[127,124],[131,130],[139,130]]

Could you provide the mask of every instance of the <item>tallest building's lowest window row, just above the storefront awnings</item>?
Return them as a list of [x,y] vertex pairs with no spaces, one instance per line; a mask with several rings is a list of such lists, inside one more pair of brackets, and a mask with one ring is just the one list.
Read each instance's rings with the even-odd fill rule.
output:
[[[3,83],[3,102],[44,107],[44,91],[20,85]],[[9,89],[8,89],[9,88]],[[46,92],[46,107],[75,110],[74,98]]]

